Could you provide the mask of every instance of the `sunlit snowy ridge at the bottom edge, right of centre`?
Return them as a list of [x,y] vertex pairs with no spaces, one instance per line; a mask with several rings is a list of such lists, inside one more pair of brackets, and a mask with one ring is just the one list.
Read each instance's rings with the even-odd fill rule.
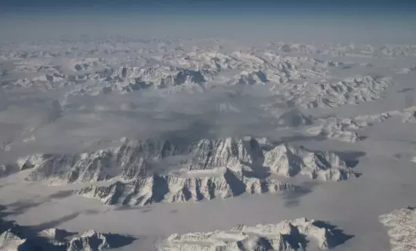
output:
[[329,224],[305,218],[278,224],[241,224],[227,231],[173,234],[157,248],[164,251],[328,249],[348,239],[342,232],[335,233],[332,229]]

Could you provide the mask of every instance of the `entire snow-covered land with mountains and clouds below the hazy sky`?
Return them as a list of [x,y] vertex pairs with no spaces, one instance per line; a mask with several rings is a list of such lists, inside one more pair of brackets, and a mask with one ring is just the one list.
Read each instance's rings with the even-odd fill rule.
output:
[[2,43],[0,250],[411,250],[388,213],[416,204],[415,64],[416,45]]

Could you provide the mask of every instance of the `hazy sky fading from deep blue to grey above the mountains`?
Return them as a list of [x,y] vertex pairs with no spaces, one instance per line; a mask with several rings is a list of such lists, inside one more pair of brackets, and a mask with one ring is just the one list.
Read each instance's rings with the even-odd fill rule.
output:
[[3,0],[3,38],[62,35],[416,43],[414,0]]

